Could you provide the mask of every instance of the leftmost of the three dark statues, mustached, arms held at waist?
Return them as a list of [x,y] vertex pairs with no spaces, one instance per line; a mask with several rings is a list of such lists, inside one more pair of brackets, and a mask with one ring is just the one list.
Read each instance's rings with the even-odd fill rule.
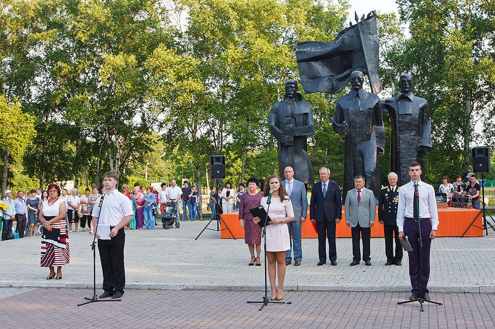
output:
[[278,141],[278,174],[285,167],[294,168],[294,178],[304,184],[313,184],[313,166],[308,154],[307,136],[315,134],[313,107],[302,100],[297,92],[297,81],[285,82],[283,100],[273,104],[268,123],[270,132]]

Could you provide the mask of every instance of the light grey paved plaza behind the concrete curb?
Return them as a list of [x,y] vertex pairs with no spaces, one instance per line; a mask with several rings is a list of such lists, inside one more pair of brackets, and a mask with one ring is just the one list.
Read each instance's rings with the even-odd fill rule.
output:
[[[244,239],[220,239],[205,231],[207,221],[181,222],[180,229],[126,231],[126,288],[262,290],[264,267],[247,266],[250,255]],[[467,223],[466,225],[468,225]],[[440,223],[448,225],[448,223]],[[213,222],[211,228],[216,227]],[[70,264],[60,281],[46,281],[40,267],[40,236],[0,242],[0,286],[89,287],[93,285],[92,237],[88,232],[69,234]],[[407,255],[403,266],[384,266],[383,238],[371,239],[372,266],[350,267],[350,238],[337,239],[337,266],[318,262],[317,239],[303,239],[301,266],[289,265],[286,290],[408,291]],[[483,237],[439,237],[432,243],[432,292],[495,292],[495,234]],[[263,257],[262,257],[263,260]],[[97,252],[97,287],[102,272]]]

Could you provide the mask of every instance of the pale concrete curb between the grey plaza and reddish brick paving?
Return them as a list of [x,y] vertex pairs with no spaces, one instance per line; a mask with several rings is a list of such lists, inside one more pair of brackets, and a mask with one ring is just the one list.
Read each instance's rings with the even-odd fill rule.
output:
[[[58,282],[58,281],[0,281],[0,288],[35,287],[35,288],[83,288],[90,289],[93,284],[88,282]],[[219,284],[165,284],[129,282],[126,289],[153,289],[153,290],[211,290],[211,291],[262,291],[264,285],[219,285]],[[97,286],[101,288],[101,283]],[[409,292],[411,286],[407,284],[287,284],[286,291],[359,291],[359,292]],[[495,293],[495,286],[482,285],[447,285],[432,284],[429,286],[433,293]]]

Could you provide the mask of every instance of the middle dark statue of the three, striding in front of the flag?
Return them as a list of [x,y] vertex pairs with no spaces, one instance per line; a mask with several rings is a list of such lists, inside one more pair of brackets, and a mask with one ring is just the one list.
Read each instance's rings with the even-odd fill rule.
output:
[[[345,136],[344,189],[354,187],[352,178],[366,177],[366,187],[378,200],[382,181],[378,155],[385,153],[385,127],[380,97],[363,89],[363,72],[351,73],[352,90],[340,96],[335,106],[332,129]],[[378,154],[378,155],[377,155]]]

